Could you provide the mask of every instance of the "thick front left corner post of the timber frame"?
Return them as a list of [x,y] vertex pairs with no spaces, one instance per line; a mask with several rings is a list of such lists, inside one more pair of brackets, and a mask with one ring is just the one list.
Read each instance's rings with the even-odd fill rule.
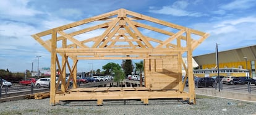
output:
[[51,33],[51,84],[50,84],[50,105],[55,105],[55,81],[56,81],[56,40],[57,32],[55,29]]

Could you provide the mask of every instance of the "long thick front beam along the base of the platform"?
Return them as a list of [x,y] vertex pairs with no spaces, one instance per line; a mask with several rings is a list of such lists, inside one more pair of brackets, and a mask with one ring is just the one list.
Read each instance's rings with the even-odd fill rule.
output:
[[155,98],[189,98],[189,93],[176,90],[155,91],[115,91],[115,92],[69,92],[65,95],[56,94],[56,101],[61,100],[125,100],[125,99],[155,99]]

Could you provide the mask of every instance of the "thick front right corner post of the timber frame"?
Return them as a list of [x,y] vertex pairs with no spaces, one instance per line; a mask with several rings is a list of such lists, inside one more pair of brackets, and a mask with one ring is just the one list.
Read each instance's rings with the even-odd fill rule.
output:
[[195,104],[195,82],[193,76],[192,66],[192,41],[190,36],[190,29],[187,28],[187,75],[189,78],[189,103]]

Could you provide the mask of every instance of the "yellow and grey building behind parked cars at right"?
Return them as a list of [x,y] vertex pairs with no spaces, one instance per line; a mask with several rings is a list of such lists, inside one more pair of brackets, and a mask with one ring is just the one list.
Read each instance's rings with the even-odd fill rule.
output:
[[[207,75],[211,76],[218,73],[216,71],[216,53],[203,54],[193,58],[198,64],[198,70],[194,70],[194,74],[207,77]],[[218,61],[220,75],[256,77],[256,45],[220,51],[218,52]]]

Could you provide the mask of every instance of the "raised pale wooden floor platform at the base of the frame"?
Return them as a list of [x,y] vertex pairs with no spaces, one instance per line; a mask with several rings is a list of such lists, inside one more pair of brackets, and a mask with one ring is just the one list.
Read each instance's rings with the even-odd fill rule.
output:
[[66,93],[56,94],[56,103],[64,100],[97,100],[101,105],[103,100],[140,99],[148,104],[148,99],[156,98],[189,98],[189,93],[177,90],[150,90],[146,87],[92,87],[75,88]]

